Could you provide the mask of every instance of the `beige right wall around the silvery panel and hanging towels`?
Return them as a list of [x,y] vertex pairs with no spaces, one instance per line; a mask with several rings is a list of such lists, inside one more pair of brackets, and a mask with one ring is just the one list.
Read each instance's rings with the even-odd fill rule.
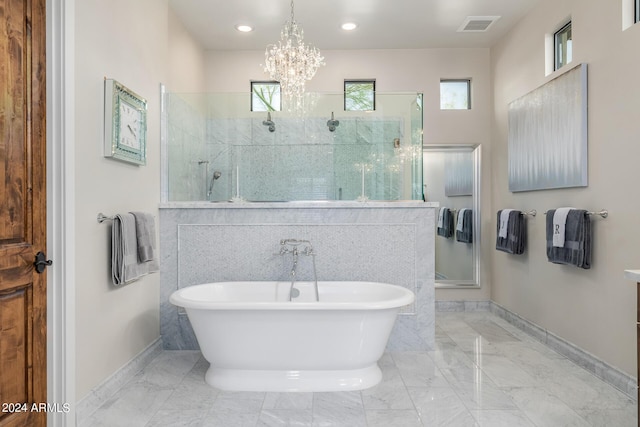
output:
[[[574,58],[568,68],[579,63],[589,68],[589,186],[510,193],[508,103],[563,71],[545,77],[544,40],[569,16]],[[491,299],[635,375],[636,292],[623,270],[640,266],[640,25],[622,31],[621,17],[620,1],[543,0],[491,49],[492,211],[513,207],[539,213],[529,220],[525,255],[491,251]],[[590,270],[547,262],[542,212],[560,206],[609,210],[608,219],[593,218]]]

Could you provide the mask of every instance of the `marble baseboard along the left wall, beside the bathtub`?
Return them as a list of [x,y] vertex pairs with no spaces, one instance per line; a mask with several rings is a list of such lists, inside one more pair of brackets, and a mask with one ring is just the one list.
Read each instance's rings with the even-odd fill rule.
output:
[[162,352],[162,339],[158,338],[122,368],[97,385],[76,404],[76,425],[81,426],[89,417]]

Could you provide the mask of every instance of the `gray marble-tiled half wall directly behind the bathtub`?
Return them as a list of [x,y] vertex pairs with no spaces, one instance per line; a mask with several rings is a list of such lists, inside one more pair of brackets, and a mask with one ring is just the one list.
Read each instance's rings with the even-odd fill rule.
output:
[[[199,283],[287,280],[291,260],[280,240],[310,240],[318,280],[393,283],[416,293],[398,316],[389,348],[431,349],[434,342],[434,225],[429,203],[168,203],[160,209],[161,335],[165,349],[197,349],[176,289]],[[285,207],[289,206],[289,207]],[[312,280],[301,257],[300,280]]]

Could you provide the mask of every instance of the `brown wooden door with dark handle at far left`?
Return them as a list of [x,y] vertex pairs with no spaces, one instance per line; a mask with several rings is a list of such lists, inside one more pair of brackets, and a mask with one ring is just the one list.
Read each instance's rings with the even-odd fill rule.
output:
[[[0,0],[0,426],[47,411],[46,0]],[[44,406],[43,406],[44,405]]]

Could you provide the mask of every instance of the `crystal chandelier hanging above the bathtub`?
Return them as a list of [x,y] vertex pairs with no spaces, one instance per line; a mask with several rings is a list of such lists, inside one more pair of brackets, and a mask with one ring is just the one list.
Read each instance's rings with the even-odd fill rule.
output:
[[324,65],[324,57],[311,45],[304,44],[304,31],[293,17],[285,22],[278,44],[270,44],[265,51],[264,71],[280,82],[282,97],[289,110],[304,109],[304,85]]

